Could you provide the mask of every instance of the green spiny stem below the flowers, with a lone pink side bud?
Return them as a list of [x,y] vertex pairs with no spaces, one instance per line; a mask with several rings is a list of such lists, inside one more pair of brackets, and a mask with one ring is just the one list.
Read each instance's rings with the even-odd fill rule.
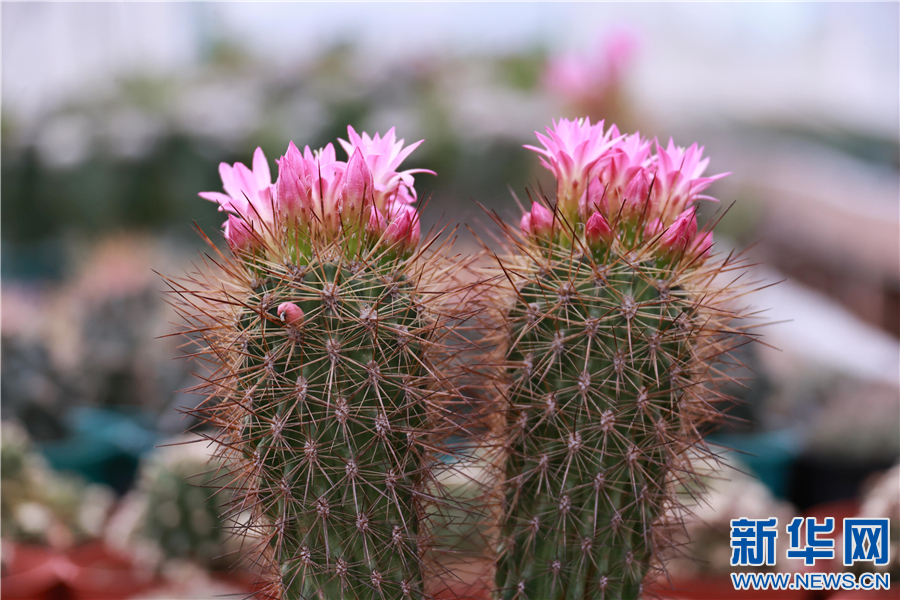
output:
[[[287,598],[412,597],[428,322],[402,263],[341,258],[270,268],[250,295],[240,443]],[[302,324],[277,316],[288,301]]]

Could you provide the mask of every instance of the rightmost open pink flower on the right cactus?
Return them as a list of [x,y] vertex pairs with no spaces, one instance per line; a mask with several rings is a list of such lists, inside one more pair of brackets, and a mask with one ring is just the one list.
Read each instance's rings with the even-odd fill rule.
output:
[[676,146],[669,139],[664,150],[659,141],[656,142],[656,181],[653,184],[653,203],[664,221],[667,215],[677,215],[697,200],[712,200],[710,196],[701,196],[700,192],[717,179],[730,173],[719,173],[711,177],[703,177],[703,171],[709,164],[709,158],[703,158],[703,147],[693,144],[690,148]]

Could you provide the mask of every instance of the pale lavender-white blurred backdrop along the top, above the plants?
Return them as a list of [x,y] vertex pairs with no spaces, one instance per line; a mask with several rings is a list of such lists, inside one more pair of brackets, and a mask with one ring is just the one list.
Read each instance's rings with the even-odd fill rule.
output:
[[631,78],[666,119],[819,120],[896,136],[897,3],[4,3],[4,110],[39,119],[119,74],[197,65],[216,39],[275,68],[352,41],[372,68],[542,44],[587,49],[611,28],[641,39]]

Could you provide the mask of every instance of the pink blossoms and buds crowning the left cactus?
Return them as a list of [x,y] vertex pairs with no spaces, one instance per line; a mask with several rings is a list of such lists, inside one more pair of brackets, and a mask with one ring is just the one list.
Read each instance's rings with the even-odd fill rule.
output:
[[237,251],[250,251],[282,230],[310,236],[334,237],[359,233],[406,251],[421,236],[416,209],[414,173],[398,171],[400,163],[422,141],[404,148],[393,128],[383,137],[359,135],[347,128],[349,141],[338,140],[347,161],[337,160],[334,145],[301,152],[291,142],[276,162],[278,179],[272,183],[269,164],[261,148],[253,155],[253,168],[242,163],[219,165],[225,193],[201,192],[200,197],[227,211],[225,239]]

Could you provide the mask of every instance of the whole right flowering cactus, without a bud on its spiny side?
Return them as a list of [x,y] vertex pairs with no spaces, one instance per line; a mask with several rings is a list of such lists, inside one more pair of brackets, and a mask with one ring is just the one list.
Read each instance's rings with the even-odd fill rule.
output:
[[[702,148],[560,120],[528,147],[557,179],[500,260],[513,284],[503,599],[636,599],[716,414],[735,290],[697,233]],[[733,310],[733,308],[732,308]],[[736,336],[736,337],[735,337]],[[717,366],[717,364],[719,366]],[[727,376],[724,376],[727,378]]]

